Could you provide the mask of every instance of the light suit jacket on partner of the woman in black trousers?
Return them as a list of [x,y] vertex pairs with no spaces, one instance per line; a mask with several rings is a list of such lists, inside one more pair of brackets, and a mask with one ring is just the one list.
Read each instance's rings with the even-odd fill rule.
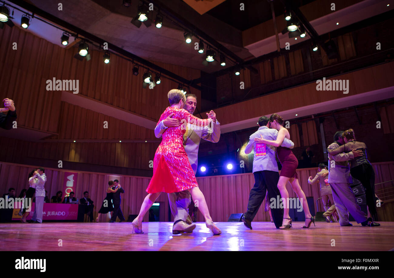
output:
[[[327,149],[336,149],[339,147],[337,142],[332,143],[328,146]],[[328,173],[328,182],[329,183],[352,183],[352,179],[350,176],[350,168],[348,160],[354,158],[352,152],[350,153],[338,153],[337,155],[331,156],[328,155],[329,163],[329,173]],[[335,161],[335,166],[331,167],[332,161]]]

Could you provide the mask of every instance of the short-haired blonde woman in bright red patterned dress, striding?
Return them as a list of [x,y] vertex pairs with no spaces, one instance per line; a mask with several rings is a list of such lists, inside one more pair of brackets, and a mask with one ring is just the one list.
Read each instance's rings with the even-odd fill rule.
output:
[[145,197],[141,210],[132,223],[133,230],[136,233],[142,233],[142,219],[160,193],[189,190],[191,197],[205,217],[206,226],[214,235],[221,234],[220,229],[212,221],[204,194],[198,187],[194,171],[190,166],[188,155],[183,146],[183,134],[187,129],[187,123],[202,128],[208,125],[212,119],[199,119],[183,109],[186,97],[178,89],[168,92],[168,100],[171,106],[165,109],[159,122],[170,114],[174,114],[173,118],[180,120],[181,125],[179,127],[168,127],[163,133],[162,142],[154,155],[153,177],[146,190],[149,194]]

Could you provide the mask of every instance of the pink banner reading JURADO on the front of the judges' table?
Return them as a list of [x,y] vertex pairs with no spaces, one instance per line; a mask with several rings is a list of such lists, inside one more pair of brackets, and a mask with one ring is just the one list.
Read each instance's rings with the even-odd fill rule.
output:
[[[35,203],[32,203],[32,210],[26,217],[27,220],[32,219],[34,214]],[[19,220],[21,216],[18,215],[19,209],[14,208],[12,220]],[[43,221],[44,220],[77,220],[78,219],[78,204],[54,204],[44,203],[43,207]]]

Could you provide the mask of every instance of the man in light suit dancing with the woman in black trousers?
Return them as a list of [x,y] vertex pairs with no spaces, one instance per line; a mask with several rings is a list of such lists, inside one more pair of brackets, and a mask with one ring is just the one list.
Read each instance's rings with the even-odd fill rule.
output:
[[[328,146],[327,149],[336,149],[340,145],[345,144],[342,138],[343,131],[337,131],[334,135],[334,143]],[[349,153],[338,153],[337,155],[329,158],[329,174],[328,182],[331,185],[333,192],[335,208],[339,215],[339,224],[341,226],[353,226],[349,222],[349,213],[357,223],[362,226],[380,226],[375,224],[372,219],[368,219],[367,215],[357,205],[353,191],[350,188],[352,179],[350,176],[350,169],[348,160],[361,156],[362,151],[353,150]]]

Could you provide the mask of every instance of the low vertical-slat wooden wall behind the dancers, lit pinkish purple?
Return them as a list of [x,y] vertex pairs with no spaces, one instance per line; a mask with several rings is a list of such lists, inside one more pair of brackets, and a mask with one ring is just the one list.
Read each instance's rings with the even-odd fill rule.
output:
[[[394,162],[373,163],[375,170],[375,183],[394,179]],[[0,192],[7,192],[9,187],[16,189],[17,194],[24,188],[27,188],[27,175],[33,169],[32,166],[10,164],[0,162]],[[63,189],[64,171],[58,169],[46,169],[47,176],[46,190],[48,196],[52,197],[58,190]],[[323,211],[323,204],[316,200],[321,197],[320,189],[317,184],[309,185],[307,180],[309,176],[316,175],[317,168],[297,169],[301,188],[307,197],[314,197],[314,210]],[[84,191],[89,191],[90,198],[95,204],[95,215],[101,206],[105,197],[109,175],[102,173],[78,172],[78,181],[76,185],[76,197],[81,198]],[[138,214],[143,199],[147,195],[146,188],[150,178],[121,176],[119,179],[125,194],[122,195],[121,208],[123,214],[127,218],[129,214]],[[214,221],[227,221],[232,213],[243,213],[247,209],[249,200],[249,192],[254,185],[254,176],[252,173],[210,176],[197,178],[199,187],[204,193],[210,215]],[[381,208],[378,208],[378,216],[381,221],[394,221],[393,203],[394,198],[392,191],[394,182],[377,184],[375,190],[377,195],[385,202]],[[290,197],[296,197],[291,190],[290,184],[287,184],[287,190]],[[169,221],[168,219],[168,199],[167,194],[161,194],[158,198],[159,202],[163,202],[160,208],[161,215],[164,219],[160,221]],[[254,221],[269,221],[268,212],[264,212],[265,201],[262,203]],[[164,214],[162,212],[164,210]],[[104,221],[105,217],[101,216],[100,221]],[[147,221],[147,216],[145,216]],[[203,216],[198,213],[197,221],[203,221]],[[317,224],[318,225],[318,224]]]

